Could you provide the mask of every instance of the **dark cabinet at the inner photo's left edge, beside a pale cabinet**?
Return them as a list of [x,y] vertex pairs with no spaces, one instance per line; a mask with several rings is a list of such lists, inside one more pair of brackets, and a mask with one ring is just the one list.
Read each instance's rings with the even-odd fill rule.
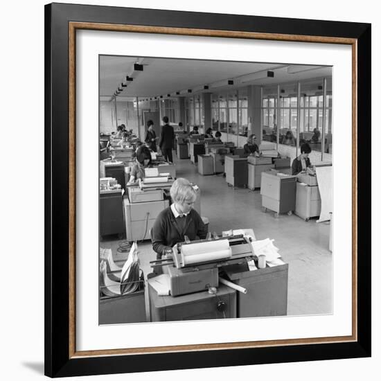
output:
[[99,233],[100,237],[109,234],[123,236],[125,226],[123,221],[122,190],[100,190],[99,195]]

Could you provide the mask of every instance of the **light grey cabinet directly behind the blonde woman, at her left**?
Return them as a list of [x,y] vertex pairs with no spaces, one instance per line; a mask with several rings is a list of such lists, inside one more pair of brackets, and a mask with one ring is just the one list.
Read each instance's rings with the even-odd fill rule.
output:
[[125,233],[128,241],[148,240],[150,229],[154,225],[159,213],[169,206],[168,200],[153,202],[134,202],[133,204],[125,197]]

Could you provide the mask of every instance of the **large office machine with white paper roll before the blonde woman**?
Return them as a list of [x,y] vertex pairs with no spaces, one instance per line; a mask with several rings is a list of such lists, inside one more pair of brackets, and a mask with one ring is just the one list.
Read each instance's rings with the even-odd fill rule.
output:
[[169,275],[170,294],[179,296],[218,287],[222,266],[247,262],[254,258],[251,238],[244,234],[206,240],[179,242],[172,259],[154,260],[153,268],[162,267]]

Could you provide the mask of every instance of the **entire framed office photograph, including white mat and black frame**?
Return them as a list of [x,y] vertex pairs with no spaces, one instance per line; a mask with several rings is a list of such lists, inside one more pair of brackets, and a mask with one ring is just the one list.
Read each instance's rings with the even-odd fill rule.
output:
[[371,25],[175,9],[45,8],[45,374],[369,357]]

